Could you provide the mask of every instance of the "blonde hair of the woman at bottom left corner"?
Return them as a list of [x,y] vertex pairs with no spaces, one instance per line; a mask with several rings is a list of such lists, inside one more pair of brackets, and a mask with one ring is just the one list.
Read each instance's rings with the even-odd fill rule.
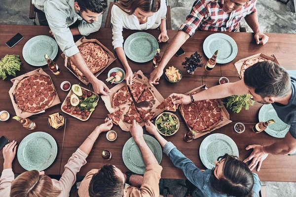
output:
[[31,170],[19,175],[11,184],[10,197],[57,197],[60,190],[53,187],[51,178]]

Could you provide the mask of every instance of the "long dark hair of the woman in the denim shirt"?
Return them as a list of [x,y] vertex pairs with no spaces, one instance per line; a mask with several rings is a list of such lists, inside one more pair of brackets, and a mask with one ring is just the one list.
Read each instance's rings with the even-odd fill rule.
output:
[[252,197],[254,177],[248,165],[228,154],[219,157],[218,161],[222,159],[225,159],[223,176],[216,178],[213,168],[210,177],[212,189],[227,196]]

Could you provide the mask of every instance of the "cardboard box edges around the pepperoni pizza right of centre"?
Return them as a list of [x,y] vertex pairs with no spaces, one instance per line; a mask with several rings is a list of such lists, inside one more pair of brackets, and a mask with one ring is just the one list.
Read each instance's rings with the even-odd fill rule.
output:
[[[185,95],[189,95],[189,94],[194,93],[194,92],[202,92],[202,91],[208,89],[206,86],[207,86],[207,84],[204,84],[204,85],[202,85],[202,86],[200,86],[200,87],[198,87],[198,88],[195,88],[195,89],[193,89],[193,90],[191,90],[191,91],[185,93]],[[221,127],[223,127],[223,126],[225,126],[225,125],[227,125],[227,124],[229,124],[229,123],[232,122],[232,121],[230,120],[229,113],[227,112],[227,110],[226,110],[225,106],[223,105],[223,102],[221,101],[221,99],[217,99],[217,100],[220,102],[220,105],[223,106],[223,107],[222,107],[222,111],[221,111],[221,112],[222,112],[222,116],[223,116],[223,120],[222,120],[218,125],[216,125],[216,126],[213,127],[212,129],[210,129],[209,131],[196,132],[196,133],[195,133],[195,136],[194,136],[194,139],[196,139],[196,138],[198,138],[198,137],[201,137],[201,136],[203,136],[203,135],[205,135],[205,134],[208,134],[208,133],[210,133],[210,132],[212,132],[212,131],[215,131],[215,130],[217,130],[217,129],[219,129],[219,128],[221,128]],[[186,123],[186,121],[185,121],[185,117],[183,117],[183,115],[182,115],[182,113],[181,113],[181,111],[180,111],[180,107],[179,107],[178,110],[179,110],[179,112],[180,112],[180,114],[181,114],[181,116],[182,116],[182,118],[183,118],[183,120],[184,120],[184,123],[185,123],[186,127],[188,128],[188,130],[192,131],[192,129],[187,125],[187,123]]]

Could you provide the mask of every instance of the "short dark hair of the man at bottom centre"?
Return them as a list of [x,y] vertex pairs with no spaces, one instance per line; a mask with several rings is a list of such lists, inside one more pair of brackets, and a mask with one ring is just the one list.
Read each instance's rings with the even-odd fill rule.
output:
[[113,165],[104,165],[94,174],[88,187],[90,197],[122,197],[124,183]]

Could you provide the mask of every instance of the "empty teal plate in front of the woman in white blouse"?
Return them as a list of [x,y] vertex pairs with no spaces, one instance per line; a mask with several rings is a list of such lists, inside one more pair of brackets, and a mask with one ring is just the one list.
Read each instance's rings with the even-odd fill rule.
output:
[[130,60],[137,63],[144,63],[153,59],[158,48],[158,42],[149,33],[137,32],[126,38],[123,48],[125,55]]

